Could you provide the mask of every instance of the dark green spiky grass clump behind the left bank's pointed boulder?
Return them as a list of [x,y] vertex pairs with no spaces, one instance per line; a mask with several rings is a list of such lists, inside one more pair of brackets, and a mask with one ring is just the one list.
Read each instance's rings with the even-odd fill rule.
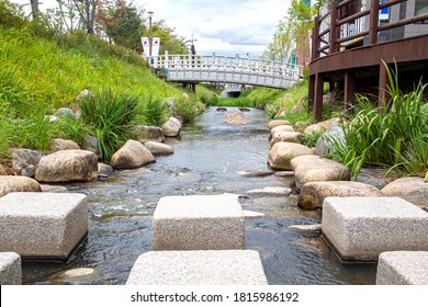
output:
[[93,96],[87,96],[80,107],[83,123],[98,138],[103,161],[110,161],[115,151],[135,137],[135,120],[139,113],[138,96],[105,89]]

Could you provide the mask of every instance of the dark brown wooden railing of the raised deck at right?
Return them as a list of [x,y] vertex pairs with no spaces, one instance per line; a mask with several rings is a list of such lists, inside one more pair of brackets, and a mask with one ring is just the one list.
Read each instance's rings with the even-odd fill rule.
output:
[[[379,33],[401,27],[404,25],[428,20],[428,13],[403,19],[396,22],[380,24],[379,11],[392,8],[395,4],[407,0],[390,0],[380,3],[379,0],[371,0],[370,8],[340,18],[340,11],[347,5],[361,2],[360,0],[331,1],[327,12],[315,18],[313,30],[312,59],[320,56],[340,52],[352,42],[368,36],[368,45],[378,44]],[[368,21],[365,24],[363,21]],[[364,25],[364,26],[362,26]],[[352,31],[349,31],[351,27]],[[348,31],[347,31],[348,30]]]

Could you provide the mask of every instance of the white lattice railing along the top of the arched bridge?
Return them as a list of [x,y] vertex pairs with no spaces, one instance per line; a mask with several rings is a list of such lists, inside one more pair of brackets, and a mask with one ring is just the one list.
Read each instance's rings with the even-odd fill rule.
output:
[[154,68],[167,69],[189,69],[189,70],[222,70],[222,71],[241,71],[254,75],[282,76],[288,79],[302,77],[303,67],[286,61],[271,61],[261,58],[248,58],[229,56],[217,56],[213,53],[211,56],[202,55],[160,55],[153,59]]

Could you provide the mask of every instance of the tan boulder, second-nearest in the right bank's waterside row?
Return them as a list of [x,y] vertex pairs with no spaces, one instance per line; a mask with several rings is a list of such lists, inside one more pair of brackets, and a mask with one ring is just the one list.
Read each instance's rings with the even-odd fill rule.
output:
[[342,163],[315,155],[296,157],[291,160],[290,166],[294,171],[297,190],[301,190],[307,182],[347,181],[350,179],[350,170]]

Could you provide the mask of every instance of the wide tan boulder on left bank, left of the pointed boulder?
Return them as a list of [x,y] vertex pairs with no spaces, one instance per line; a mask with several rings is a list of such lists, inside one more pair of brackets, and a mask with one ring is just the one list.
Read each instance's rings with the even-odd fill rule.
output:
[[45,156],[35,174],[42,182],[91,181],[97,177],[98,158],[88,150],[60,150]]

